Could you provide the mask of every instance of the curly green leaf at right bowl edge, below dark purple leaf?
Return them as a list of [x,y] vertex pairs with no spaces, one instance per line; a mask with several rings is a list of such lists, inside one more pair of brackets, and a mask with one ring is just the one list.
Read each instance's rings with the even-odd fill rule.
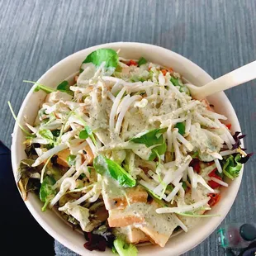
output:
[[240,163],[240,160],[240,154],[236,154],[235,157],[234,154],[231,154],[227,159],[221,161],[221,164],[223,164],[223,173],[225,176],[231,179],[239,176],[239,172],[243,166],[243,164]]

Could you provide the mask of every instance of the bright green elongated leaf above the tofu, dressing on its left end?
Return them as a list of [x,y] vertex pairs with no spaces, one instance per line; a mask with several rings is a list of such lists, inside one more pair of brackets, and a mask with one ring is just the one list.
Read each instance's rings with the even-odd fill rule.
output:
[[101,154],[93,159],[93,167],[101,175],[110,174],[111,178],[116,179],[123,187],[135,187],[136,185],[135,179],[124,168],[121,168],[119,164],[103,157]]

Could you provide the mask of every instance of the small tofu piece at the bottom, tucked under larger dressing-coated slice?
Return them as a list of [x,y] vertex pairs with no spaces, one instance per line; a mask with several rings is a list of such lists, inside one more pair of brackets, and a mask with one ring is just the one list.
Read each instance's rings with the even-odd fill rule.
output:
[[128,225],[122,228],[115,228],[114,234],[125,235],[126,243],[139,244],[149,241],[149,237],[144,232],[135,228],[133,225]]

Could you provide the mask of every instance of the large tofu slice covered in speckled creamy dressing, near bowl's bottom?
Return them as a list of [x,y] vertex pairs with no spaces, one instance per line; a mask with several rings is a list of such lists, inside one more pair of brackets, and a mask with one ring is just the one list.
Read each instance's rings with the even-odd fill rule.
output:
[[109,211],[108,223],[112,227],[134,225],[149,237],[153,244],[161,247],[167,243],[173,230],[178,226],[177,220],[172,213],[158,214],[156,203],[134,203],[126,209]]

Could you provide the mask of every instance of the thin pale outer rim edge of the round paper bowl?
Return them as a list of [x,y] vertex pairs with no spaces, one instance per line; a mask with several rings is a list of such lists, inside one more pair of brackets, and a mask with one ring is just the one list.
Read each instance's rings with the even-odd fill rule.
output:
[[[201,67],[199,67],[197,64],[193,63],[191,60],[183,57],[183,55],[178,55],[177,53],[173,52],[172,50],[168,50],[165,49],[164,47],[160,47],[157,45],[150,45],[150,44],[145,44],[145,43],[138,43],[138,42],[113,42],[113,43],[107,43],[107,44],[102,44],[102,45],[95,45],[83,50],[79,50],[75,53],[73,53],[72,55],[69,55],[67,57],[65,57],[64,59],[61,59],[58,63],[56,63],[55,65],[53,65],[50,69],[48,69],[38,80],[37,82],[40,83],[40,81],[44,80],[45,78],[47,78],[49,76],[49,74],[54,73],[55,71],[57,71],[59,69],[59,67],[62,64],[65,64],[66,62],[69,62],[70,59],[75,59],[77,58],[79,55],[83,55],[84,52],[86,52],[88,55],[90,52],[92,52],[93,50],[97,50],[100,48],[122,48],[124,46],[127,47],[137,47],[137,48],[148,48],[149,50],[158,50],[158,51],[162,51],[163,53],[167,53],[167,54],[172,54],[173,56],[177,57],[178,59],[182,60],[184,63],[190,64],[192,65],[195,69],[197,69],[197,71],[199,73],[201,73],[202,75],[205,76],[206,80],[208,80],[208,82],[211,82],[211,80],[213,80],[213,78],[211,78],[211,76],[206,73],[205,70],[201,69]],[[34,91],[34,87],[31,88],[31,90],[26,94],[26,97],[24,99],[24,101],[21,104],[21,108],[19,110],[19,114],[17,116],[17,120],[21,121],[21,114],[23,111],[25,111],[26,108],[26,104],[29,101],[32,93]],[[239,126],[239,120],[235,114],[235,110],[233,108],[233,106],[231,105],[228,97],[225,96],[224,92],[220,92],[221,96],[225,98],[226,102],[228,105],[230,105],[230,111],[231,111],[231,115],[233,117],[235,117],[235,123],[236,123],[236,127],[240,129]],[[13,133],[12,133],[12,172],[14,174],[14,176],[16,176],[16,172],[17,172],[17,155],[14,154],[17,151],[17,144],[16,144],[16,140],[17,140],[17,131],[19,130],[19,127],[17,126],[17,122],[14,126],[13,129]],[[243,141],[242,145],[243,145]],[[243,169],[244,166],[240,172],[240,175],[238,178],[235,179],[235,181],[233,181],[233,183],[235,183],[235,186],[232,186],[232,194],[229,197],[228,203],[227,203],[227,207],[225,208],[224,212],[221,212],[222,215],[219,219],[217,220],[213,220],[210,224],[209,224],[209,230],[207,230],[207,232],[201,232],[201,235],[197,235],[197,238],[192,239],[192,241],[187,241],[187,244],[185,247],[183,248],[179,248],[175,250],[175,254],[173,255],[180,255],[183,254],[185,252],[187,252],[188,250],[196,247],[198,244],[200,244],[204,239],[206,239],[209,235],[211,235],[211,233],[216,230],[217,226],[220,225],[220,222],[222,220],[225,219],[225,216],[228,214],[228,212],[230,211],[231,206],[233,205],[234,201],[235,201],[235,197],[237,196],[237,193],[239,191],[239,186],[242,180],[242,175],[243,175]],[[78,248],[77,245],[72,244],[69,242],[69,240],[65,239],[63,237],[63,235],[59,234],[54,228],[51,227],[50,223],[47,223],[47,221],[43,220],[41,217],[41,214],[44,214],[44,212],[38,212],[36,211],[36,209],[33,206],[33,203],[31,202],[30,198],[28,197],[28,199],[25,201],[25,204],[28,208],[28,210],[31,212],[32,216],[34,216],[34,218],[36,219],[36,221],[42,226],[42,228],[44,230],[46,230],[54,239],[58,240],[59,243],[64,244],[64,246],[68,247],[69,249],[73,250],[75,253],[77,254],[83,254],[83,255],[97,255],[100,253],[94,253],[94,252],[89,252],[89,251],[82,251],[81,249]],[[85,250],[85,249],[84,249]],[[164,250],[164,248],[162,249]],[[146,255],[146,254],[145,254]],[[169,255],[166,251],[164,254],[162,255]]]

